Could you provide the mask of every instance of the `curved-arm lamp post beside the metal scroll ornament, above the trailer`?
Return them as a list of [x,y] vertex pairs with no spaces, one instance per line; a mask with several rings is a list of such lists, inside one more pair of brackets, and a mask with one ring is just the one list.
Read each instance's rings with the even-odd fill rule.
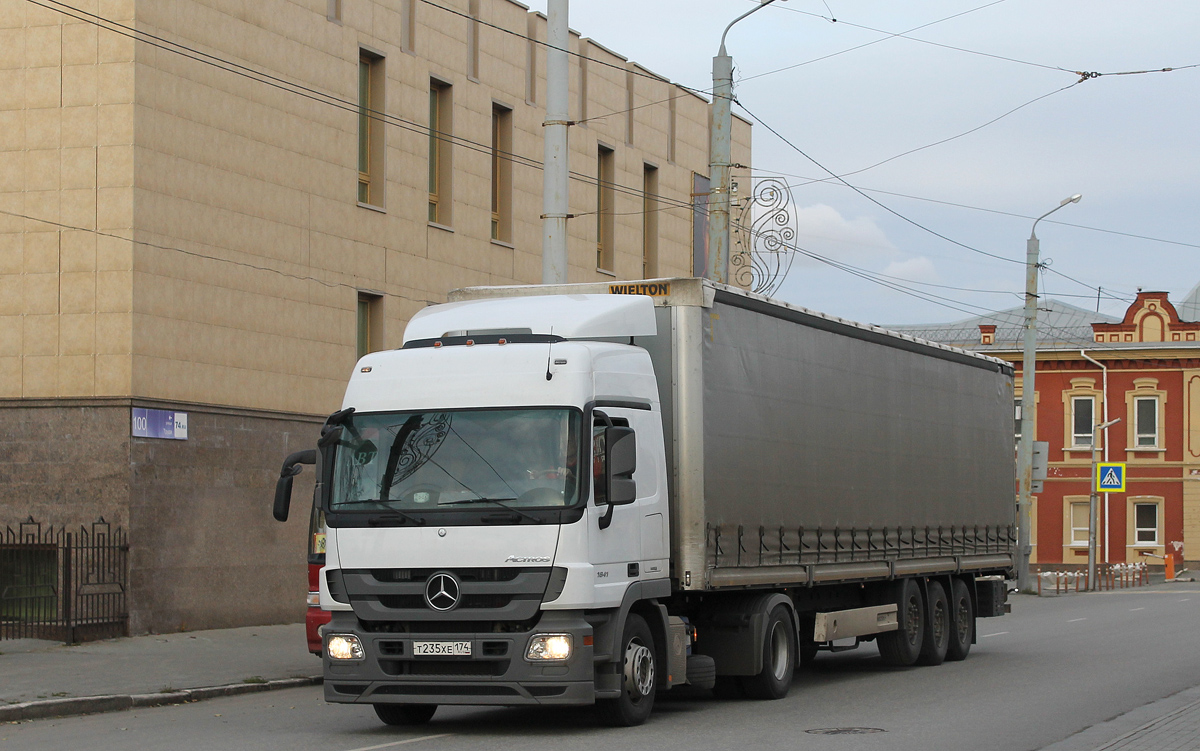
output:
[[725,53],[725,37],[733,24],[774,1],[761,0],[758,6],[730,22],[721,35],[721,49],[713,58],[713,107],[708,121],[708,256],[704,265],[708,278],[722,284],[728,281],[730,274],[730,168],[733,131],[733,58]]

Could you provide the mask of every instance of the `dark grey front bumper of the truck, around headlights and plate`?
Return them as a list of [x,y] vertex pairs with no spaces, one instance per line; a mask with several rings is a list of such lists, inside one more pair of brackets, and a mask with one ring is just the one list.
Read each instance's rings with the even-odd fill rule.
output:
[[[379,633],[364,631],[353,613],[335,612],[322,631],[354,633],[366,653],[356,662],[332,662],[323,650],[328,702],[512,707],[595,701],[593,648],[584,644],[592,626],[581,613],[546,611],[534,629],[517,633]],[[535,665],[524,659],[529,637],[546,632],[571,635],[566,662]],[[469,641],[472,656],[415,656],[413,642],[419,641]]]

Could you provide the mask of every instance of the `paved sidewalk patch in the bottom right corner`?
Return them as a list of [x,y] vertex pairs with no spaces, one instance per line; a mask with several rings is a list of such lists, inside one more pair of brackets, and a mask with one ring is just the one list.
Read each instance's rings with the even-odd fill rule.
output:
[[1194,751],[1200,749],[1200,686],[1093,725],[1040,751]]

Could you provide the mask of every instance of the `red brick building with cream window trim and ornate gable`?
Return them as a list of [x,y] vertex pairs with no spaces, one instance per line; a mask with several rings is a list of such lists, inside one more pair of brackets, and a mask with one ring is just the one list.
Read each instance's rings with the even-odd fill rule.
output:
[[[1020,431],[1021,325],[1014,308],[900,329],[1013,361]],[[1126,492],[1100,495],[1097,560],[1200,561],[1200,286],[1178,306],[1139,292],[1121,319],[1043,302],[1037,368],[1034,439],[1049,443],[1049,471],[1033,504],[1032,563],[1087,563],[1092,428],[1117,417],[1094,447],[1099,461],[1126,462]]]

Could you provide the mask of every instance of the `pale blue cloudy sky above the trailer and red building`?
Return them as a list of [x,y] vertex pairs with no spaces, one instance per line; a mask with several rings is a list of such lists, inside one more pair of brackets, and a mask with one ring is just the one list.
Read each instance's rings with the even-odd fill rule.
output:
[[[571,0],[570,25],[707,90],[755,5]],[[797,254],[775,296],[876,324],[1020,306],[1033,220],[1081,193],[1037,227],[1044,294],[1110,316],[1139,288],[1182,299],[1200,283],[1198,36],[1195,0],[776,0],[739,22],[755,176],[788,182],[797,246],[856,268]],[[814,181],[830,173],[853,187]]]

